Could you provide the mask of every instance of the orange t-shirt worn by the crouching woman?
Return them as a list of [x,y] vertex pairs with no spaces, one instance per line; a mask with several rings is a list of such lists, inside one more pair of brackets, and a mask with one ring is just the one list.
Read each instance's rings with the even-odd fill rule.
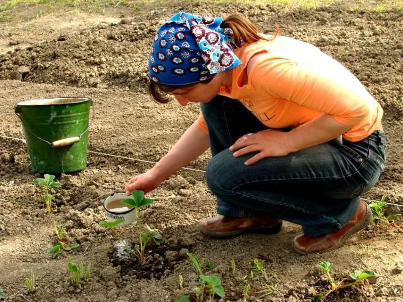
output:
[[[257,53],[247,77],[246,66]],[[360,81],[311,44],[278,36],[245,44],[235,54],[242,64],[232,71],[232,86],[221,87],[219,94],[241,102],[267,127],[298,127],[326,113],[340,124],[353,124],[343,138],[359,141],[382,119],[381,106]],[[201,114],[196,124],[208,133]]]

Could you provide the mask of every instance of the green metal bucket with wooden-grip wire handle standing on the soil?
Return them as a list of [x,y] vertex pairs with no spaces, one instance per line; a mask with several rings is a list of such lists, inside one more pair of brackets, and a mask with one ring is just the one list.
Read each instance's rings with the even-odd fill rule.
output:
[[[92,100],[85,97],[39,99],[19,102],[32,170],[65,173],[87,165],[88,129]],[[94,109],[94,108],[93,108]]]

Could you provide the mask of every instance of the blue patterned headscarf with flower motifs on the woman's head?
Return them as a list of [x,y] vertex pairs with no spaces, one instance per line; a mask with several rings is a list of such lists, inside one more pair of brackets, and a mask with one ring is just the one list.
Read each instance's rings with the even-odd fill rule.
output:
[[149,59],[152,81],[186,85],[235,68],[241,61],[233,52],[231,29],[221,28],[221,17],[177,13],[154,37]]

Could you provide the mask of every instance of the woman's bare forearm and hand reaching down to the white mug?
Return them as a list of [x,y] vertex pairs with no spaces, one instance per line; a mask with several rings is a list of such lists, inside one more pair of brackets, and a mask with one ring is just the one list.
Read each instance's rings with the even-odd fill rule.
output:
[[143,190],[145,193],[154,190],[161,182],[203,154],[209,146],[209,135],[193,123],[151,170],[130,179],[124,191],[129,195],[133,190]]

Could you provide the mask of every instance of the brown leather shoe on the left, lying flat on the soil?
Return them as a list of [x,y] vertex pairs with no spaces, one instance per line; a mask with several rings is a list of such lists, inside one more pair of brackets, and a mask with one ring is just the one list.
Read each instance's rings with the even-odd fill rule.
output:
[[217,216],[206,218],[199,224],[201,233],[211,237],[231,237],[246,231],[263,234],[277,234],[283,221],[273,217],[226,217]]

